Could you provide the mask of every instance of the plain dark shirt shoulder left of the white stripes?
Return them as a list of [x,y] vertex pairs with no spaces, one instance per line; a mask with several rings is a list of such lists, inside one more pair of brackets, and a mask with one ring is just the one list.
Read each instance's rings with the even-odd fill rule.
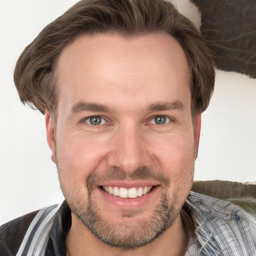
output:
[[39,210],[15,218],[0,226],[0,255],[15,255],[25,233]]

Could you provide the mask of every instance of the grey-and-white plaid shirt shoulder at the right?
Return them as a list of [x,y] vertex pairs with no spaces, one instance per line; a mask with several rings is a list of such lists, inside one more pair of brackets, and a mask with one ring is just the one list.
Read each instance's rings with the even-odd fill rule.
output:
[[203,248],[208,244],[208,251],[214,247],[215,251],[229,251],[229,254],[230,251],[255,254],[255,216],[230,202],[195,192],[189,193],[184,210],[189,214],[196,238],[204,244]]

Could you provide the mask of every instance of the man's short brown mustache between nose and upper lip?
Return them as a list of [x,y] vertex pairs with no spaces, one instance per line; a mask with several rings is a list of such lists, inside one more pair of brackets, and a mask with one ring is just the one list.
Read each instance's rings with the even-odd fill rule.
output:
[[100,184],[103,181],[138,179],[154,180],[165,187],[168,187],[170,184],[169,178],[161,170],[153,170],[148,166],[140,166],[130,174],[127,174],[123,169],[119,167],[110,167],[103,173],[98,173],[96,170],[94,170],[88,176],[86,185],[88,190],[90,190],[94,184]]

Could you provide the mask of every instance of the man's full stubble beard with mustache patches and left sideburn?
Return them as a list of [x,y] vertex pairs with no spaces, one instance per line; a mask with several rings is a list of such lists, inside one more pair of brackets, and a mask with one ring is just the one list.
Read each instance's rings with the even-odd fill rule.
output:
[[[75,192],[75,189],[67,188],[65,181],[62,177],[63,169],[57,164],[59,181],[63,195],[72,211],[72,213],[87,227],[92,234],[104,243],[122,248],[125,250],[134,249],[154,240],[157,236],[168,229],[175,221],[180,209],[177,208],[178,200],[177,195],[174,194],[173,198],[168,198],[169,180],[166,177],[158,175],[161,180],[161,198],[155,204],[154,210],[149,219],[134,221],[134,212],[132,210],[123,210],[121,213],[121,221],[110,222],[106,219],[98,209],[96,203],[91,198],[92,185],[95,183],[95,178],[102,180],[102,177],[92,175],[87,179],[87,200]],[[111,174],[111,173],[115,174]],[[107,172],[105,178],[118,177],[125,179],[126,174],[122,170],[111,169]],[[110,175],[109,175],[110,173]],[[138,168],[132,174],[132,179],[150,176],[150,171],[146,166]],[[72,191],[72,192],[71,192]],[[180,202],[179,202],[180,203]]]

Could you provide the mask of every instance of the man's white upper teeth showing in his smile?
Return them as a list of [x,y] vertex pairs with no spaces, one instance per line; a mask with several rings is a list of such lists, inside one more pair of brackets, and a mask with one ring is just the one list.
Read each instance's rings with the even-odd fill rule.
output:
[[119,196],[122,198],[135,198],[137,196],[148,193],[152,189],[152,186],[140,186],[138,188],[131,187],[128,189],[117,186],[102,186],[102,188],[109,194],[113,194],[115,196]]

